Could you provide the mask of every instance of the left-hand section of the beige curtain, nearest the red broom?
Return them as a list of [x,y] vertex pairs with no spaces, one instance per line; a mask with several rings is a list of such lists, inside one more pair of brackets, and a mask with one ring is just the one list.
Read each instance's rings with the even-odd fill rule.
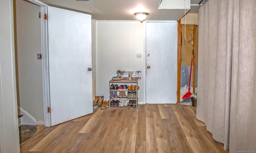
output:
[[197,118],[227,149],[229,113],[226,112],[229,112],[231,79],[231,60],[227,60],[231,51],[226,44],[227,1],[210,0],[199,11]]

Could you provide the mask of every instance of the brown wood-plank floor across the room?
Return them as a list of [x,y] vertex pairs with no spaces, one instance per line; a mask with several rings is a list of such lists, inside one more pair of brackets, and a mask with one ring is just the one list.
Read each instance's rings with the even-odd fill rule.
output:
[[196,119],[196,108],[146,104],[37,126],[21,153],[228,153]]

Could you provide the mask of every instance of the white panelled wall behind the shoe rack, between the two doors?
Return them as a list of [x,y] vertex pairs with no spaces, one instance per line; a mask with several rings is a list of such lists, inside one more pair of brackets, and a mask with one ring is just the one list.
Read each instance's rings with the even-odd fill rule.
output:
[[143,102],[144,33],[144,23],[138,21],[96,21],[96,95],[109,99],[109,80],[117,70],[140,70],[138,102]]

